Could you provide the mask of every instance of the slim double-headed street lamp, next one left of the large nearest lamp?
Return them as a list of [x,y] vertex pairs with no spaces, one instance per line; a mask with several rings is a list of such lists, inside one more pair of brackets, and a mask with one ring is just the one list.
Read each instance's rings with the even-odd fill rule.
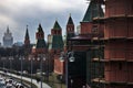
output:
[[40,61],[40,79],[41,79],[41,88],[42,88],[42,61],[45,61],[45,54],[39,54],[38,61]]

